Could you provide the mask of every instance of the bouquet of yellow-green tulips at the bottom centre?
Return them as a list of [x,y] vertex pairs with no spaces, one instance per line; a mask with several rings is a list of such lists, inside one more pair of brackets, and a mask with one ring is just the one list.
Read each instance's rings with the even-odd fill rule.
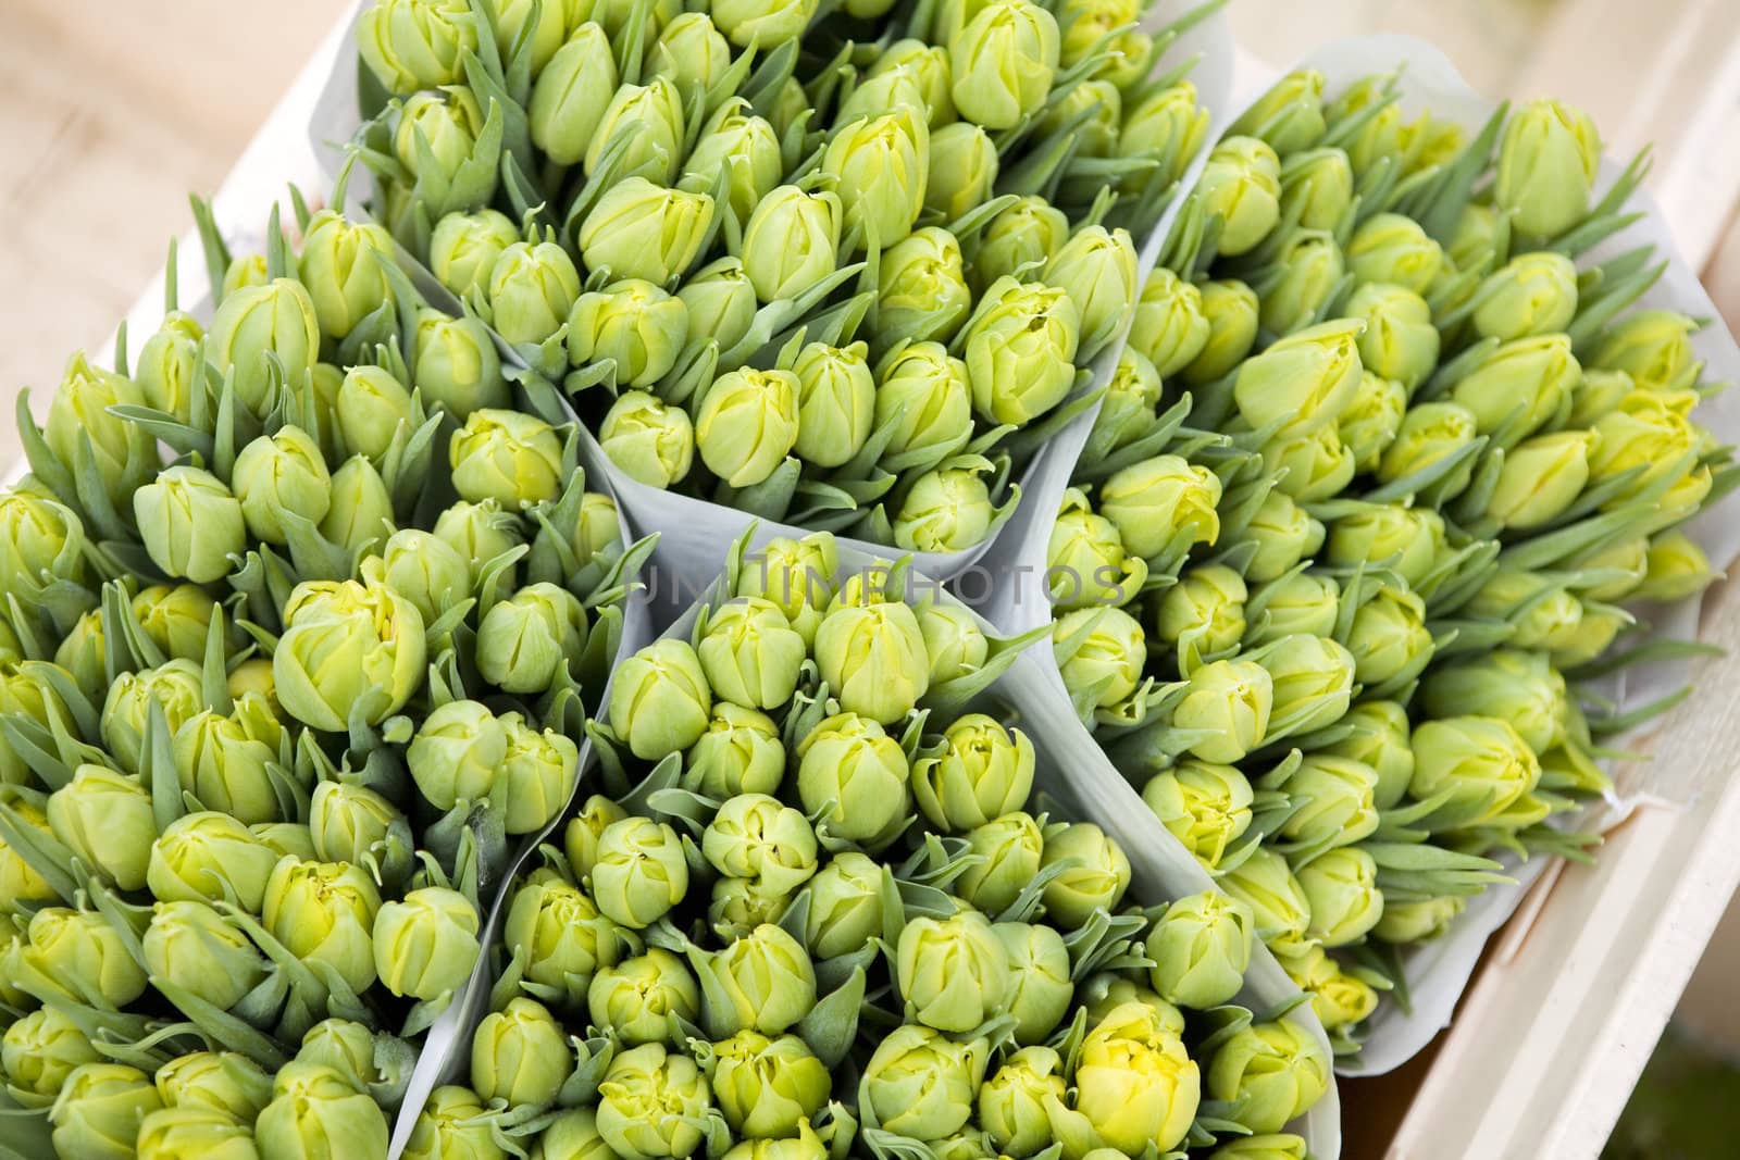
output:
[[1025,642],[837,562],[774,539],[616,670],[407,1155],[1303,1157],[1329,1057],[1230,1005],[1251,908],[1134,903],[1006,723]]

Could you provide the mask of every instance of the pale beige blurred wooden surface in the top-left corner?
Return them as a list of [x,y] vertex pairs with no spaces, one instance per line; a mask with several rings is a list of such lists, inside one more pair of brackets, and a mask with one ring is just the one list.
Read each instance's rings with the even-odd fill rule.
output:
[[0,0],[0,464],[350,0]]

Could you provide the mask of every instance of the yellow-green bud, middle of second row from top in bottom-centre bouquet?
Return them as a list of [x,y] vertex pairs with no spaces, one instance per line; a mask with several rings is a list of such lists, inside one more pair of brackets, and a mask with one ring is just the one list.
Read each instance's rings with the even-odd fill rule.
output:
[[905,603],[840,605],[816,628],[816,666],[846,713],[893,725],[929,687],[919,617]]

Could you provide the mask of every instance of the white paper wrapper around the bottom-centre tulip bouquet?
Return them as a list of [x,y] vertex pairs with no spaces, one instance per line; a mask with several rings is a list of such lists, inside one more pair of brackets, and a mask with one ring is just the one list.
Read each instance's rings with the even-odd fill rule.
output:
[[[750,539],[750,557],[752,551],[766,541],[778,536],[778,529],[755,529]],[[666,536],[661,541],[661,548],[666,543],[680,544],[679,565],[699,567],[705,558],[699,550],[693,546],[686,537]],[[873,551],[865,553],[856,548],[847,546],[846,541],[839,543],[839,567],[840,574],[858,574],[870,569],[879,560],[887,560],[889,553]],[[724,557],[720,557],[720,562]],[[726,590],[724,576],[720,567],[713,569],[713,579],[706,588],[691,598],[684,607],[682,614],[677,616],[659,638],[680,638],[687,640],[694,630],[694,621],[699,614],[703,602],[722,603],[729,595]],[[940,586],[931,588],[922,584],[917,586],[919,598],[934,595],[955,607],[960,605],[952,595],[943,591]],[[980,617],[980,628],[985,633],[995,633],[997,630]],[[1049,664],[1035,664],[1046,652],[1044,643],[1035,645],[1027,650],[1016,663],[1004,673],[997,682],[992,683],[981,699],[997,703],[1013,711],[1014,722],[1023,732],[1032,739],[1034,751],[1037,757],[1035,776],[1034,776],[1034,793],[1046,795],[1056,803],[1053,810],[1054,817],[1065,817],[1072,821],[1091,821],[1107,831],[1119,845],[1124,847],[1124,854],[1129,857],[1131,866],[1131,890],[1129,897],[1143,904],[1154,904],[1162,899],[1183,897],[1187,894],[1199,894],[1211,887],[1208,875],[1202,871],[1195,861],[1183,852],[1174,842],[1159,842],[1157,837],[1168,837],[1161,830],[1159,823],[1138,798],[1134,802],[1134,810],[1124,800],[1124,795],[1133,797],[1117,770],[1110,767],[1105,757],[1100,753],[1098,746],[1082,744],[1081,725],[1075,720],[1075,713],[1070,708],[1067,697],[1063,697],[1046,678],[1046,668],[1054,670]],[[607,696],[607,690],[606,690]],[[581,788],[576,791],[576,798],[583,798],[588,793],[586,783],[592,772],[592,744],[581,751]],[[1108,790],[1122,788],[1124,795],[1108,793]],[[517,877],[527,868],[532,850],[527,849],[519,864],[513,868],[512,877]],[[484,932],[484,957],[478,960],[478,967],[466,986],[466,997],[463,1002],[456,1002],[447,1016],[442,1016],[440,1023],[430,1030],[428,1045],[425,1047],[423,1059],[418,1063],[416,1080],[412,1080],[412,1096],[421,1103],[428,1097],[435,1087],[442,1083],[465,1083],[466,1068],[470,1064],[470,1043],[472,1031],[477,1024],[489,1014],[489,988],[494,983],[494,970],[489,962],[489,948],[501,939],[501,927],[506,923],[506,908],[498,906],[496,913],[491,917],[489,925]],[[1251,1010],[1263,1010],[1275,1007],[1279,1003],[1289,1002],[1298,997],[1298,988],[1275,962],[1274,955],[1268,953],[1260,943],[1253,948],[1251,967],[1244,976],[1244,990],[1239,993],[1237,1002],[1249,1007]],[[461,1010],[463,1009],[463,1010]],[[1319,1045],[1324,1054],[1329,1052],[1329,1038],[1322,1031],[1322,1024],[1312,1012],[1308,1003],[1302,1003],[1289,1016],[1317,1037]],[[440,1045],[437,1047],[437,1033],[440,1033]],[[1208,1061],[1199,1061],[1202,1068],[1208,1068]],[[405,1097],[405,1104],[411,1104],[411,1097]],[[1314,1160],[1338,1160],[1342,1155],[1342,1103],[1335,1083],[1324,1094],[1317,1104],[1300,1117],[1298,1122],[1288,1125],[1289,1130],[1305,1137],[1310,1155]],[[411,1123],[407,1118],[400,1118],[398,1130],[393,1137],[392,1158],[404,1151],[404,1139],[409,1137]]]

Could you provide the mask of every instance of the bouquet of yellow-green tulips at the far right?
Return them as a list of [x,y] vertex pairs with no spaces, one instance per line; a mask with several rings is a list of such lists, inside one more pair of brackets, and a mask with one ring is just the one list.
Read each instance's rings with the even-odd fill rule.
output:
[[1576,264],[1643,165],[1596,202],[1576,110],[1395,101],[1293,73],[1215,146],[1049,541],[1082,718],[1348,1050],[1491,856],[1587,845],[1639,720],[1592,682],[1740,478],[1700,323],[1627,313],[1665,263]]

